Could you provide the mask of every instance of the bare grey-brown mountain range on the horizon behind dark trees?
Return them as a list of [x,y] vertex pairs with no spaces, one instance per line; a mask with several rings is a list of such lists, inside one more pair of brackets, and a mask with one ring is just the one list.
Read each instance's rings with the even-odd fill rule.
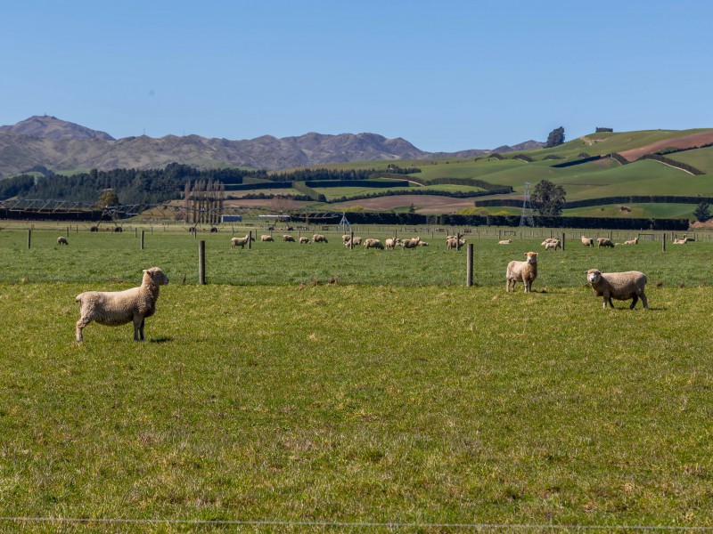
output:
[[174,162],[199,168],[245,166],[275,171],[350,161],[475,158],[492,152],[541,148],[544,144],[529,141],[494,150],[426,152],[400,137],[387,139],[379,134],[264,135],[242,141],[200,135],[114,139],[57,117],[35,116],[0,126],[0,174],[21,173],[38,166],[61,172],[162,168]]

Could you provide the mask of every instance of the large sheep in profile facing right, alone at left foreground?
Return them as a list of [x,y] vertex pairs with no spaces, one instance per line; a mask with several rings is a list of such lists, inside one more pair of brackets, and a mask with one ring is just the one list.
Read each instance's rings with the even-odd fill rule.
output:
[[93,320],[107,327],[118,327],[134,321],[134,341],[143,341],[143,324],[156,312],[159,287],[168,277],[159,267],[143,271],[141,286],[124,291],[85,291],[75,297],[80,304],[77,341],[83,341],[82,329]]

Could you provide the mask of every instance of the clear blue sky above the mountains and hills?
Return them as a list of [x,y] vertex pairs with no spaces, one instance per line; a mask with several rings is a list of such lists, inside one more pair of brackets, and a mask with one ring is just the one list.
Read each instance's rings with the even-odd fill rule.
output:
[[1,4],[0,125],[429,151],[713,126],[709,0]]

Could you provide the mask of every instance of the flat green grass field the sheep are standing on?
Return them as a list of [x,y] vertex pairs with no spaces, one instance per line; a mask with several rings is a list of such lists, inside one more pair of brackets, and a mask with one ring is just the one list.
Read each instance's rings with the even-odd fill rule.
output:
[[[464,251],[436,241],[201,235],[200,286],[187,232],[147,232],[143,251],[128,231],[57,235],[27,250],[26,231],[0,231],[2,517],[713,526],[707,234],[664,253],[568,233],[529,295],[504,292],[504,267],[540,236],[470,235],[478,286],[463,287]],[[95,324],[73,341],[75,295],[154,264],[171,283],[147,343]],[[602,310],[594,266],[646,272],[650,310]]]

